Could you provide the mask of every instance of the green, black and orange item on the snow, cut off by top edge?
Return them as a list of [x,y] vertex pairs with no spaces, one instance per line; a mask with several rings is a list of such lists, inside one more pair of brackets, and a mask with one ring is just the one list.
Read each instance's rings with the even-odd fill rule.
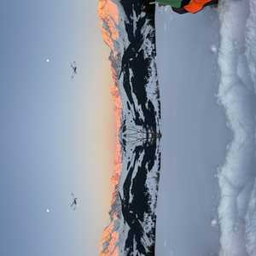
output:
[[170,5],[179,15],[196,14],[208,5],[218,5],[218,0],[155,0],[160,5]]

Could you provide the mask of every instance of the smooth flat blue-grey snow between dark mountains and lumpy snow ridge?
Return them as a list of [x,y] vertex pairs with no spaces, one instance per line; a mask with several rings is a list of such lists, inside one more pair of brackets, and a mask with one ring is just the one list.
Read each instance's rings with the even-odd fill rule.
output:
[[218,30],[215,9],[157,9],[163,139],[156,255],[218,255],[216,176],[231,138],[216,96]]

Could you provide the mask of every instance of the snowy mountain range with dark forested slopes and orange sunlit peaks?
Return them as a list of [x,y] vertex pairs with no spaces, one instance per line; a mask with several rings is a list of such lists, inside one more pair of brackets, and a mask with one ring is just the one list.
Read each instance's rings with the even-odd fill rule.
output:
[[101,255],[154,255],[161,136],[154,5],[101,0],[98,13],[118,102],[113,200]]

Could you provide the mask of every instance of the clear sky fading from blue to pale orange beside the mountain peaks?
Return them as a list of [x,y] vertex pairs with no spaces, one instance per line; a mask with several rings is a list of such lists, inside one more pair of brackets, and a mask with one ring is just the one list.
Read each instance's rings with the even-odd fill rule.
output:
[[1,1],[1,255],[97,255],[114,120],[96,10],[89,0]]

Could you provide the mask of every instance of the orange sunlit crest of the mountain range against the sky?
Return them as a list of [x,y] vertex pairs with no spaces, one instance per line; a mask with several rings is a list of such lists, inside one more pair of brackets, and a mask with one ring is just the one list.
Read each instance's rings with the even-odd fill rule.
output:
[[[116,56],[113,42],[119,39],[119,31],[116,29],[119,23],[119,7],[111,0],[100,0],[98,6],[98,15],[100,20],[104,20],[106,26],[102,24],[102,37],[111,53]],[[112,66],[112,65],[111,65]],[[119,131],[122,124],[122,100],[119,94],[118,75],[113,67],[111,67],[113,85],[110,92],[113,96],[114,117],[115,117],[115,153],[113,175],[111,177],[111,185],[113,189],[111,206],[116,203],[118,198],[119,179],[122,171],[122,147],[119,142]],[[119,221],[119,210],[113,210],[110,213],[111,222],[102,234],[102,245],[100,256],[119,256],[119,233],[115,231],[116,222]]]

